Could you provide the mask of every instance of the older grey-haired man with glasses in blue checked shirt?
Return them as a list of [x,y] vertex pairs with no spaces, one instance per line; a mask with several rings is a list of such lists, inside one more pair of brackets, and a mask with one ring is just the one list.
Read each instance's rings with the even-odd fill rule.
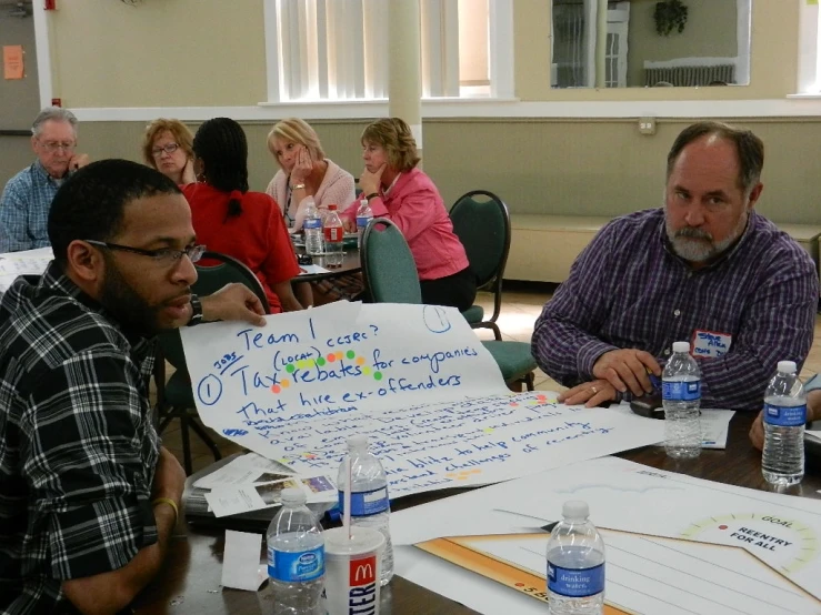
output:
[[47,107],[31,125],[37,160],[6,184],[0,198],[0,252],[49,245],[46,229],[51,201],[70,173],[89,157],[74,152],[77,118],[68,109]]

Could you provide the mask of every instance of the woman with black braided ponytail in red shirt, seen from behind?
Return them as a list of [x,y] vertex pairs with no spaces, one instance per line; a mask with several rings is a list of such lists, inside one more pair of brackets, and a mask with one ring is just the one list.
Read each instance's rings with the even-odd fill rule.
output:
[[248,141],[228,118],[204,122],[193,139],[197,183],[182,186],[197,241],[242,261],[266,289],[271,313],[301,310],[291,290],[299,274],[277,202],[248,190]]

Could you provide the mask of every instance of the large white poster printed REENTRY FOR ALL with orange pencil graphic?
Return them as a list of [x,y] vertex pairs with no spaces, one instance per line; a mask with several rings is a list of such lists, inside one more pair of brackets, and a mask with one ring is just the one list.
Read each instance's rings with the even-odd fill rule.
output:
[[[540,527],[561,518],[567,500],[588,502],[602,530],[605,599],[619,612],[821,613],[821,502],[615,457],[393,514],[397,574],[480,613],[544,613],[532,597],[544,592],[547,535]],[[420,543],[424,551],[401,546]],[[460,550],[470,556],[460,559]],[[482,558],[483,568],[474,565]],[[528,574],[505,577],[508,564]]]

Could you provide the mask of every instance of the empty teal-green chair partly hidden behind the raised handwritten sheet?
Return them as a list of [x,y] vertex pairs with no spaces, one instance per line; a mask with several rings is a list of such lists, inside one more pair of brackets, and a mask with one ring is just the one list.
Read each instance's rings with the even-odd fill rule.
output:
[[[417,265],[399,226],[374,218],[362,234],[360,248],[366,292],[374,303],[422,303]],[[524,342],[482,342],[511,389],[533,390],[535,361]]]

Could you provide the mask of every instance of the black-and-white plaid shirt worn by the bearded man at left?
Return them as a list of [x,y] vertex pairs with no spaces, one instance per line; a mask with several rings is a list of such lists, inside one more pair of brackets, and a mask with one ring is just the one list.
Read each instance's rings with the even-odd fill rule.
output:
[[66,607],[63,579],[157,542],[152,366],[54,263],[0,299],[0,613]]

